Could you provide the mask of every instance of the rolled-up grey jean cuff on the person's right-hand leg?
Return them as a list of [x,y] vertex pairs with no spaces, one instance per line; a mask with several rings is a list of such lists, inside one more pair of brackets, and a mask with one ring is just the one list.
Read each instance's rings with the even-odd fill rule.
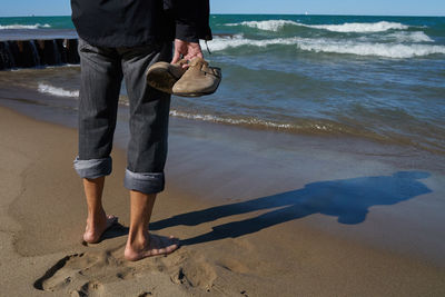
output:
[[123,186],[129,190],[144,194],[158,194],[165,187],[164,172],[132,172],[127,169]]

